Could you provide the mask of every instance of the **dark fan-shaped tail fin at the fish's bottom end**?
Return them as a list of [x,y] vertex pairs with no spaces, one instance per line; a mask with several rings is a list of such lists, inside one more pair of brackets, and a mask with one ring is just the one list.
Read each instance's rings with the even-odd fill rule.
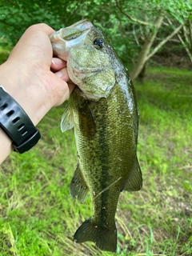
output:
[[115,252],[117,250],[117,229],[115,223],[111,229],[107,229],[103,226],[97,226],[89,218],[75,232],[74,241],[95,242],[99,249]]

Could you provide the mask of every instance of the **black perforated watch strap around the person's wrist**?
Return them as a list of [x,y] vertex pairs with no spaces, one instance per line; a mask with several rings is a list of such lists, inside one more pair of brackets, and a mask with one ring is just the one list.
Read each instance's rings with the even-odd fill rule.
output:
[[22,154],[38,143],[41,134],[22,107],[0,86],[0,127],[13,141],[14,151]]

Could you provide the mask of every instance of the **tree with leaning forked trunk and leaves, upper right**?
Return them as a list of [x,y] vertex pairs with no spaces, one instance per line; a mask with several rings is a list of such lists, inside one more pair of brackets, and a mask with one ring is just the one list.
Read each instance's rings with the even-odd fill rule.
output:
[[[138,75],[142,72],[146,62],[166,43],[173,38],[175,34],[184,28],[184,23],[186,19],[190,17],[190,11],[192,10],[192,4],[190,1],[186,1],[185,3],[177,0],[177,1],[166,1],[163,0],[161,2],[157,1],[147,1],[144,5],[140,0],[134,1],[134,3],[125,4],[124,1],[115,0],[116,5],[118,6],[118,10],[126,16],[126,18],[130,19],[131,22],[137,23],[138,26],[145,26],[143,30],[146,31],[144,34],[141,50],[138,53],[138,59],[136,64],[134,65],[134,69],[130,72],[130,77],[134,80],[138,77]],[[122,5],[121,5],[122,3]],[[139,7],[136,7],[139,6]],[[134,9],[137,8],[137,9]],[[145,14],[143,14],[143,12]],[[137,18],[138,17],[138,18]],[[142,19],[140,19],[143,17]],[[152,45],[155,41],[155,38],[160,32],[160,29],[163,24],[163,20],[165,18],[172,19],[173,22],[170,22],[170,25],[177,24],[175,28],[173,26],[173,30],[164,35],[164,38],[152,49]],[[191,23],[190,23],[191,24]],[[164,23],[163,26],[166,26]],[[160,33],[159,33],[160,34]],[[178,34],[178,37],[181,40],[181,37]],[[187,42],[190,40],[187,38]],[[189,49],[186,47],[186,44],[181,40],[183,46],[185,46],[187,52]],[[190,55],[190,54],[189,54]]]

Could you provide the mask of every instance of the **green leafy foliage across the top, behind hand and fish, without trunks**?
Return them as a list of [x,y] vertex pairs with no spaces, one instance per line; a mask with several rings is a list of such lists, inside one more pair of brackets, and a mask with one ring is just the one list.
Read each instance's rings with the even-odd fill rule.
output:
[[[34,23],[46,22],[58,30],[88,18],[110,38],[122,61],[133,66],[147,34],[154,30],[154,20],[159,14],[168,15],[174,26],[178,26],[179,22],[184,23],[190,18],[191,10],[190,0],[2,0],[0,38],[6,37],[8,42],[15,44]],[[141,22],[147,22],[149,26]],[[162,40],[173,30],[173,26],[162,26],[158,38]]]

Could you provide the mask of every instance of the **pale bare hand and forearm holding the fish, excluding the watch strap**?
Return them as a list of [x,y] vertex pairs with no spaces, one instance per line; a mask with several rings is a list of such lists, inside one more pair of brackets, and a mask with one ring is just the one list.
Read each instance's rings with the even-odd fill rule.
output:
[[[54,30],[46,24],[30,26],[0,66],[0,86],[22,106],[34,126],[53,106],[66,101],[74,89],[66,62],[53,58],[52,33]],[[0,128],[0,163],[12,152],[11,144]]]

